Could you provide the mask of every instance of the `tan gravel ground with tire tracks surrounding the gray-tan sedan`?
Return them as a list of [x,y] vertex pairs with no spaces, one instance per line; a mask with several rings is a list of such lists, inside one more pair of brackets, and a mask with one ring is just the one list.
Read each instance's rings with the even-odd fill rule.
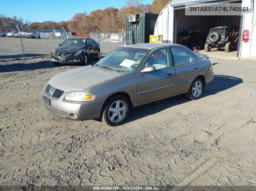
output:
[[109,127],[45,110],[48,80],[79,67],[48,60],[0,62],[2,185],[256,184],[255,61],[211,58],[201,99],[137,107]]

